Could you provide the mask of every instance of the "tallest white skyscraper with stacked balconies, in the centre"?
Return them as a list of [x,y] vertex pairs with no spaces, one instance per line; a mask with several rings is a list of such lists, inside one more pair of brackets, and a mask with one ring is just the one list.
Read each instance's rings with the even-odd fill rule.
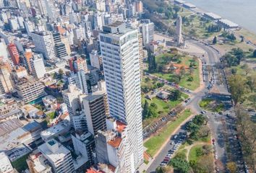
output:
[[135,172],[143,161],[138,31],[114,22],[99,38],[110,116],[127,125],[126,170]]

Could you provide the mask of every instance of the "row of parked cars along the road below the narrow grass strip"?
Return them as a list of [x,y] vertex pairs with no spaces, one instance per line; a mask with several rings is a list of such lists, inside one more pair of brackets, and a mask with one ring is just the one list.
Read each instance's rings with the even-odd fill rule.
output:
[[171,161],[171,157],[174,155],[175,151],[179,148],[179,146],[182,145],[182,142],[185,141],[187,138],[187,133],[179,133],[174,136],[174,138],[171,138],[170,145],[172,148],[168,151],[168,154],[166,154],[166,157],[161,162],[160,166],[164,167],[166,164],[168,164],[169,161]]

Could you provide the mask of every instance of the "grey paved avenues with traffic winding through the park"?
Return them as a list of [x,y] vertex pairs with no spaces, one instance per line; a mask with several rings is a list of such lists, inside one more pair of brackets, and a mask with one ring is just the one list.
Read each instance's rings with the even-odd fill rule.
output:
[[[213,68],[213,72],[208,76],[207,70],[205,70],[205,89],[202,89],[200,92],[192,93],[192,99],[190,102],[187,103],[187,107],[192,107],[197,113],[200,113],[202,109],[199,107],[198,103],[202,98],[205,97],[213,97],[222,101],[225,105],[225,110],[223,115],[213,115],[210,112],[207,112],[205,115],[208,117],[208,123],[210,124],[210,129],[213,134],[213,138],[216,139],[216,144],[214,146],[215,153],[218,156],[216,161],[220,164],[217,164],[218,170],[220,172],[225,172],[223,170],[223,166],[226,165],[228,160],[227,153],[226,153],[226,146],[230,146],[232,148],[232,153],[229,158],[231,160],[236,161],[236,164],[239,165],[239,172],[244,172],[243,161],[242,161],[242,152],[239,146],[239,141],[236,140],[234,134],[236,134],[235,118],[234,118],[234,110],[231,105],[231,97],[230,93],[227,90],[226,83],[224,82],[224,74],[223,71],[217,70],[214,66],[216,63],[219,63],[219,58],[221,55],[216,51],[210,48],[208,45],[204,45],[203,43],[198,43],[196,41],[190,40],[190,43],[197,45],[198,47],[202,48],[206,52],[206,56],[202,57],[203,61],[210,65]],[[207,87],[209,86],[210,78],[214,79],[214,91],[216,94],[211,93]],[[226,116],[226,114],[230,116]],[[179,133],[179,132],[178,132]],[[170,140],[171,142],[171,140]],[[233,148],[234,147],[234,148]],[[156,156],[153,163],[148,168],[147,172],[155,172],[155,169],[160,165],[161,161],[166,157],[168,154],[168,150],[171,149],[172,146],[170,143],[164,146],[163,150]],[[217,157],[216,157],[217,158]]]

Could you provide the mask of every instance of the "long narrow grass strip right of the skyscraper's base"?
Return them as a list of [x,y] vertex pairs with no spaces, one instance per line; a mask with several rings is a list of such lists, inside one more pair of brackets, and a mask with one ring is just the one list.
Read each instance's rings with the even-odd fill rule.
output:
[[174,122],[168,123],[166,126],[164,126],[160,133],[157,136],[152,136],[148,141],[144,143],[144,146],[147,148],[148,154],[150,156],[154,156],[155,153],[161,148],[163,143],[170,138],[171,133],[174,132],[174,130],[184,122],[184,120],[187,119],[191,115],[190,110],[185,110],[182,112],[182,114],[176,119]]

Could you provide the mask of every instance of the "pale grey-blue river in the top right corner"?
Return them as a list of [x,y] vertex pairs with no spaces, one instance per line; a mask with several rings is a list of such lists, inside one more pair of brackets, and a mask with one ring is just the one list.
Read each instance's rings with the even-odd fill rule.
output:
[[184,0],[256,34],[256,0]]

